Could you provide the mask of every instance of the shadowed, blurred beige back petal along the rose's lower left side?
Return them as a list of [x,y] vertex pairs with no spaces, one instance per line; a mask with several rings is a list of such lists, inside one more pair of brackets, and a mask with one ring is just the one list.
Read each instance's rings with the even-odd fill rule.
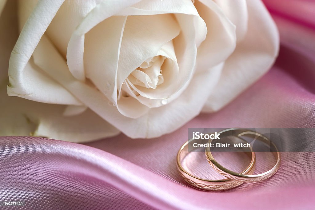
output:
[[[32,135],[86,142],[120,133],[91,110],[86,110],[83,114],[77,113],[75,116],[65,117],[63,115],[65,105],[38,103],[7,95],[6,88],[9,78],[6,69],[8,69],[10,52],[18,38],[18,24],[15,15],[15,1],[8,1],[0,19],[0,27],[6,31],[0,35],[0,135]],[[33,60],[31,62],[34,63]],[[68,111],[70,109],[73,111],[73,108],[67,108]]]

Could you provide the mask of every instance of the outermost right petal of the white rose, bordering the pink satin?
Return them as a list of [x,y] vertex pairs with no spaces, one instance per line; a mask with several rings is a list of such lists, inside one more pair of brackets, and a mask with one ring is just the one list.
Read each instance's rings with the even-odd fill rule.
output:
[[265,6],[247,1],[248,33],[226,60],[222,75],[203,111],[217,111],[257,81],[273,64],[279,50],[279,34]]

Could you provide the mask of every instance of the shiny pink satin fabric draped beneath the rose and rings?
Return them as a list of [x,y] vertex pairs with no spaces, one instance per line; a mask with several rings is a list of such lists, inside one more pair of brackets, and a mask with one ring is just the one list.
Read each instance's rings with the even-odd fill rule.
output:
[[[283,152],[280,169],[270,179],[224,192],[189,187],[175,167],[188,128],[315,127],[314,12],[303,6],[312,5],[314,11],[315,4],[280,2],[265,1],[281,35],[275,66],[221,111],[200,114],[157,139],[121,134],[80,145],[1,137],[0,201],[25,201],[21,209],[314,209],[312,152]],[[292,12],[295,8],[300,13]],[[204,166],[200,176],[212,173],[203,154],[193,158]],[[258,155],[257,170],[270,161]]]

